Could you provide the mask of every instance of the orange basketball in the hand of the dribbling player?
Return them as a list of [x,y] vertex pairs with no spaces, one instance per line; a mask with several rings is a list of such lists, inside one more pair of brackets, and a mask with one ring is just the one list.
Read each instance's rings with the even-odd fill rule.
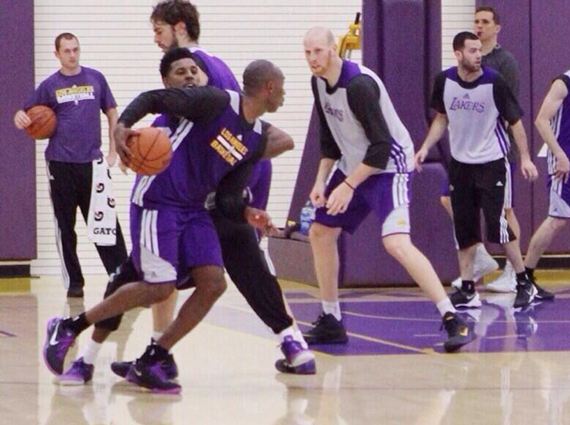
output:
[[127,139],[131,150],[130,169],[137,174],[154,175],[168,167],[172,159],[172,143],[158,128],[142,128]]

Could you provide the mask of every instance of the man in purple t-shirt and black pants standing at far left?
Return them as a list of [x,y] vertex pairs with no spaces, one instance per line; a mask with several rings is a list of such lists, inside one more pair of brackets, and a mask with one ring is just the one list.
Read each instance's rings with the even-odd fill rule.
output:
[[[82,298],[85,285],[77,257],[77,208],[87,222],[95,174],[100,166],[105,167],[102,165],[100,111],[109,122],[106,165],[112,167],[117,161],[113,137],[118,116],[117,103],[103,74],[79,64],[80,53],[79,40],[75,35],[59,34],[55,39],[55,56],[61,68],[39,85],[24,110],[14,116],[14,123],[20,130],[32,123],[25,111],[35,105],[49,106],[57,116],[57,128],[49,139],[45,157],[64,286],[67,296],[72,298]],[[110,185],[111,180],[105,179],[105,184]],[[113,199],[109,207],[114,209]],[[127,258],[123,232],[119,221],[115,221],[110,223],[116,234],[115,242],[95,244],[108,274]]]

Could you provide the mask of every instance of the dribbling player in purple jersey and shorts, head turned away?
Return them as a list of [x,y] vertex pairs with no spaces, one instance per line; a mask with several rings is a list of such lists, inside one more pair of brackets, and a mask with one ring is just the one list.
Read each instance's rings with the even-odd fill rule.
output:
[[[132,256],[144,280],[122,286],[77,317],[50,320],[43,352],[52,372],[61,374],[69,347],[91,324],[167,299],[175,290],[182,256],[182,266],[191,269],[196,289],[127,375],[129,381],[156,392],[180,392],[161,364],[226,287],[218,238],[204,204],[228,173],[283,149],[272,146],[266,125],[257,119],[282,105],[283,83],[279,68],[258,60],[244,72],[243,94],[214,87],[154,90],[141,94],[125,109],[115,132],[118,145],[125,143],[132,133],[129,128],[147,113],[166,113],[173,134],[170,166],[157,176],[139,176],[133,188]],[[126,165],[129,154],[119,151]],[[236,193],[241,199],[242,192]],[[243,216],[244,209],[237,210]]]

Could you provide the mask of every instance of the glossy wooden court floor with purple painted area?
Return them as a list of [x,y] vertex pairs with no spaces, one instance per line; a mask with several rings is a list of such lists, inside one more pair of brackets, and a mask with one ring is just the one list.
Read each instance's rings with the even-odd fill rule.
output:
[[[93,383],[60,387],[43,364],[52,316],[97,303],[68,303],[59,279],[0,280],[0,424],[570,424],[570,286],[545,284],[557,300],[514,312],[509,296],[484,295],[470,316],[479,338],[442,354],[439,319],[415,290],[344,291],[347,347],[320,347],[317,375],[280,375],[278,341],[230,289],[174,349],[180,396],[139,391],[111,372],[146,346],[150,311],[130,312],[96,362]],[[568,280],[566,280],[568,281]],[[286,284],[301,324],[318,313],[314,288]],[[183,294],[183,301],[188,294]],[[79,340],[82,346],[90,332]],[[68,360],[73,360],[77,347]]]

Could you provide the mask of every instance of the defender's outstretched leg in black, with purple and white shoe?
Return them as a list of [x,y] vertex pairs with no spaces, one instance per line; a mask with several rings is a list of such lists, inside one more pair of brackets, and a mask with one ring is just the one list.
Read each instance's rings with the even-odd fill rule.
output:
[[212,213],[226,270],[255,314],[279,337],[285,359],[276,364],[282,372],[315,373],[315,356],[292,317],[283,292],[259,248],[255,230]]

